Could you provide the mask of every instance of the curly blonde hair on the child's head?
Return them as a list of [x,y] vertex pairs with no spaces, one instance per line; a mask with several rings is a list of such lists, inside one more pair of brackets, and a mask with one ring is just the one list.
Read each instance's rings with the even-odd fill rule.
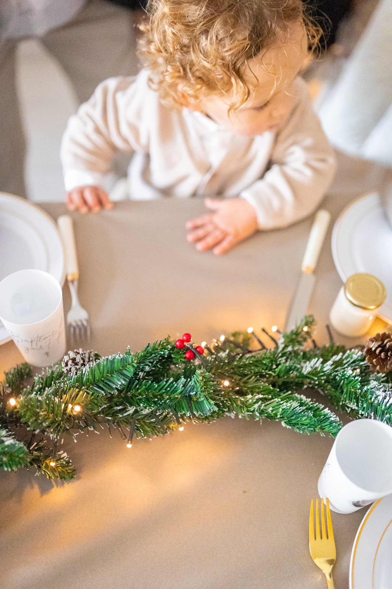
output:
[[229,93],[238,108],[251,94],[243,76],[249,59],[294,23],[303,24],[310,51],[321,35],[302,0],[149,0],[147,12],[139,55],[169,108]]

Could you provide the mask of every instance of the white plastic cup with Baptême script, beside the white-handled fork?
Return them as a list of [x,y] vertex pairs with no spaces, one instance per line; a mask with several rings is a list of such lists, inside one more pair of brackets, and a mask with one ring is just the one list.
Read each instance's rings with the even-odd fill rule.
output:
[[0,319],[26,362],[50,366],[65,354],[63,297],[42,270],[20,270],[0,282]]

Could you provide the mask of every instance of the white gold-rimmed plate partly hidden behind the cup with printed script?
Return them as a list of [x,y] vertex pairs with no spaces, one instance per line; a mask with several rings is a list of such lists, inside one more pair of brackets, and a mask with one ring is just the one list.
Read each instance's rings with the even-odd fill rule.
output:
[[[24,198],[0,192],[0,281],[18,270],[45,270],[61,286],[65,253],[55,222]],[[11,337],[0,322],[0,345]]]

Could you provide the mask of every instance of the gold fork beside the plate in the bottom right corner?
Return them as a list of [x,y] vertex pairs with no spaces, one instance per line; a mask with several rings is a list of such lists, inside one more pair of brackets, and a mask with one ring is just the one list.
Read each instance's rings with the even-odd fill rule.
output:
[[332,567],[336,561],[336,548],[333,537],[331,513],[329,510],[329,501],[327,501],[327,532],[324,521],[324,500],[321,499],[321,531],[323,537],[320,538],[320,521],[319,521],[319,499],[316,499],[316,540],[314,540],[314,524],[313,524],[313,499],[310,504],[310,518],[309,518],[309,549],[310,556],[316,562],[317,567],[321,568],[324,575],[326,575],[328,589],[334,589],[332,580]]

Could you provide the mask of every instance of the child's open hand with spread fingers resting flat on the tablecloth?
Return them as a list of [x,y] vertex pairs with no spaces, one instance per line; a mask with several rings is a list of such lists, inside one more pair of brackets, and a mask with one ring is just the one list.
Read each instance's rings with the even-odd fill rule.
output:
[[215,254],[223,254],[256,231],[256,213],[244,198],[206,198],[205,204],[215,213],[203,215],[185,225],[191,229],[187,240],[197,243],[196,249],[201,252],[213,249]]

